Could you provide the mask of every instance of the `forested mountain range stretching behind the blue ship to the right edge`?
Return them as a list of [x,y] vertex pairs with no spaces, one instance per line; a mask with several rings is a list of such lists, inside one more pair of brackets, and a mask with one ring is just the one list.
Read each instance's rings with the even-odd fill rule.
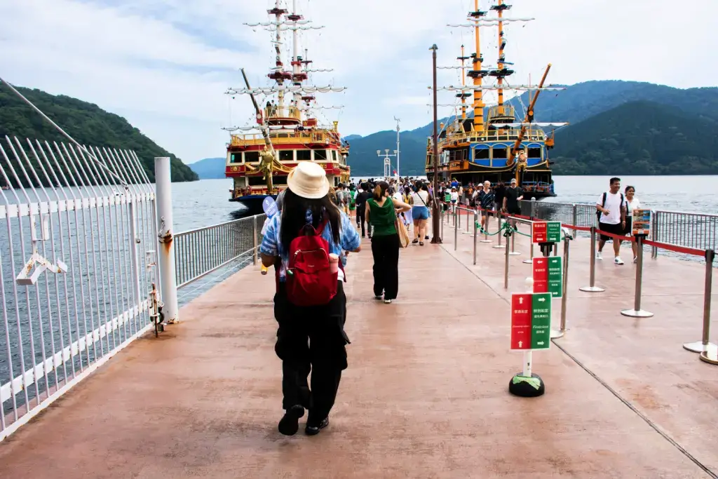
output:
[[[522,101],[528,105],[528,93],[521,101],[513,98],[508,103],[523,112]],[[715,135],[718,88],[681,90],[652,83],[589,81],[566,90],[542,92],[535,113],[536,121],[571,123],[556,134],[556,148],[549,152],[559,175],[602,175],[608,170],[618,175],[716,172],[710,160],[712,151],[697,151]],[[648,117],[653,114],[661,118]],[[431,134],[431,123],[401,133],[402,175],[424,173],[426,139]],[[382,162],[376,150],[392,148],[395,135],[382,131],[350,141],[352,175],[380,174]],[[687,148],[686,141],[693,146]],[[640,157],[635,157],[637,154]]]

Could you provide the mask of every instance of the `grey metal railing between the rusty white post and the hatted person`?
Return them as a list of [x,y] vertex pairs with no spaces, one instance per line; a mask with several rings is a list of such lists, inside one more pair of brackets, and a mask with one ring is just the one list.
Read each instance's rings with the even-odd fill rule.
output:
[[177,287],[181,288],[242,256],[256,255],[266,215],[183,231],[174,236]]

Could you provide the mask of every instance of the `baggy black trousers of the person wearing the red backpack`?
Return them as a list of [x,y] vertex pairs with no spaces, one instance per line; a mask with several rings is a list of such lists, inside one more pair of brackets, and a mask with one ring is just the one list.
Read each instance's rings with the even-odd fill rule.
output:
[[274,350],[282,361],[282,407],[301,404],[309,409],[309,424],[329,416],[347,368],[346,304],[341,282],[337,295],[322,306],[295,306],[286,298],[283,283],[274,294],[274,317],[279,322]]

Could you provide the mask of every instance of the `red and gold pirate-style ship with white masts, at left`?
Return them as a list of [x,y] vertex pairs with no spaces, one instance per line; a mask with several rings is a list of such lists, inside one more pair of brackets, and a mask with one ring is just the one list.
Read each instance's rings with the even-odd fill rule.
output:
[[[348,182],[350,176],[349,145],[342,141],[338,122],[327,126],[317,119],[318,111],[341,107],[318,106],[315,98],[317,93],[340,92],[345,88],[308,85],[312,73],[331,70],[314,70],[312,61],[299,55],[297,32],[322,27],[315,27],[297,14],[296,0],[291,14],[281,8],[279,0],[267,13],[273,17],[271,22],[246,25],[273,33],[275,67],[267,75],[273,84],[251,88],[242,72],[245,87],[226,92],[233,98],[248,95],[256,113],[256,124],[227,129],[231,136],[225,168],[225,176],[233,179],[229,200],[241,203],[251,212],[261,211],[264,198],[276,197],[286,188],[286,177],[299,162],[320,164],[332,185]],[[282,33],[287,30],[292,31],[291,69],[285,68],[281,52]]]

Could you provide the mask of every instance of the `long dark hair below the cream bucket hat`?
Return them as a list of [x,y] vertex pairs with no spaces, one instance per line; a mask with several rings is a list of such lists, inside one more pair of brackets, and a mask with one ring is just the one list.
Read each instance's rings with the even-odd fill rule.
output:
[[284,251],[289,251],[289,243],[292,243],[292,240],[299,236],[299,230],[307,224],[307,210],[312,212],[312,225],[314,228],[317,228],[322,220],[327,218],[329,225],[332,227],[334,242],[337,244],[340,242],[342,213],[332,203],[329,195],[325,195],[319,200],[309,200],[298,196],[287,188],[286,193],[284,193],[284,205],[282,206],[279,233]]

